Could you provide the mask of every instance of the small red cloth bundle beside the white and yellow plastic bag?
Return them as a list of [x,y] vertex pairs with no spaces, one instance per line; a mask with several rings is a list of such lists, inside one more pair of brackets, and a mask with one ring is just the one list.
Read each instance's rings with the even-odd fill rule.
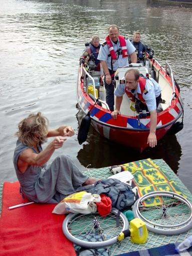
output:
[[111,212],[112,201],[109,196],[100,194],[101,202],[96,203],[97,210],[101,216],[107,216]]

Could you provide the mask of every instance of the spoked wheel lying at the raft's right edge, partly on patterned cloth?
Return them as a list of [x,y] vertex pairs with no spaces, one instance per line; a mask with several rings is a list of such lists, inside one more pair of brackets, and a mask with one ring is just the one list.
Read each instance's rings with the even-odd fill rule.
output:
[[135,217],[142,219],[148,230],[173,235],[192,227],[192,206],[174,192],[156,191],[140,197],[133,205]]

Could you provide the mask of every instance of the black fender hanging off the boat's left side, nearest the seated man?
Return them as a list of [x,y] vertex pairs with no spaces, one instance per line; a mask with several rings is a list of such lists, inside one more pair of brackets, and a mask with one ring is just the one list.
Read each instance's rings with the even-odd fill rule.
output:
[[91,116],[90,116],[90,113],[88,112],[86,115],[83,116],[80,127],[79,127],[77,139],[80,145],[87,140],[90,124],[91,124]]

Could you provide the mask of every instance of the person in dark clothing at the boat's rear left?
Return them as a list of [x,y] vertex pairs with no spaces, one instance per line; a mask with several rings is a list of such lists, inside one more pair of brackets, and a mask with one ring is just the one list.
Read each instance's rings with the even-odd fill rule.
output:
[[99,43],[100,39],[98,36],[93,36],[91,42],[89,43],[89,47],[86,48],[83,54],[80,57],[79,65],[89,63],[90,60],[94,62],[95,71],[100,71],[100,60],[97,59],[99,54],[99,49],[101,44]]

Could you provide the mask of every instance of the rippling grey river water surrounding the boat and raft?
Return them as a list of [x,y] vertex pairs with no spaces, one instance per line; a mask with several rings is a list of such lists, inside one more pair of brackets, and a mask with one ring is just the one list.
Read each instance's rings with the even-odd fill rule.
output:
[[[69,154],[84,170],[162,158],[192,192],[192,8],[146,0],[0,0],[0,6],[1,183],[17,180],[12,157],[18,122],[41,111],[50,128],[70,124],[76,131],[50,161]],[[142,154],[109,142],[92,128],[83,145],[77,141],[83,115],[75,93],[79,57],[93,35],[104,41],[110,24],[129,38],[140,31],[158,62],[171,64],[181,88],[183,130]]]

